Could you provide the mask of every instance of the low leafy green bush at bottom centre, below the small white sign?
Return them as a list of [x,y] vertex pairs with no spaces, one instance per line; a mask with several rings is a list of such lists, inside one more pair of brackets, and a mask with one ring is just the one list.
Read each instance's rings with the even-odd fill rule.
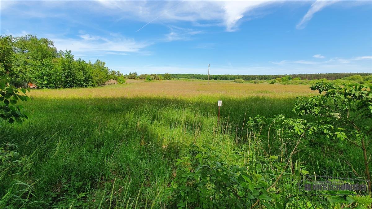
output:
[[228,163],[240,158],[239,153],[192,145],[190,155],[177,160],[177,177],[171,183],[177,207],[247,208],[259,199],[272,200],[262,174]]

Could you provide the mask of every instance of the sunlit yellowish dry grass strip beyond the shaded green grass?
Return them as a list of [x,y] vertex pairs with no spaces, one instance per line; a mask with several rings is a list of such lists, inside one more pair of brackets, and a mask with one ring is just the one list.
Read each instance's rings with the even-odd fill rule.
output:
[[232,81],[155,81],[128,80],[117,84],[95,88],[39,89],[29,94],[46,98],[101,98],[101,97],[167,97],[185,98],[198,96],[272,97],[288,98],[314,94],[309,86],[281,84],[233,83]]

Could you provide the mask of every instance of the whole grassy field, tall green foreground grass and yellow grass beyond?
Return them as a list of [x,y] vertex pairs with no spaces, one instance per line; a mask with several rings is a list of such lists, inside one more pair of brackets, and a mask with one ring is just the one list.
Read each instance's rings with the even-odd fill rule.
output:
[[[32,90],[34,100],[24,104],[32,117],[0,125],[0,143],[17,144],[22,157],[14,175],[1,173],[0,207],[171,207],[166,194],[175,160],[190,144],[265,154],[269,142],[246,139],[247,118],[296,117],[296,97],[315,94],[309,86],[210,84],[132,80]],[[279,146],[270,151],[279,155]]]

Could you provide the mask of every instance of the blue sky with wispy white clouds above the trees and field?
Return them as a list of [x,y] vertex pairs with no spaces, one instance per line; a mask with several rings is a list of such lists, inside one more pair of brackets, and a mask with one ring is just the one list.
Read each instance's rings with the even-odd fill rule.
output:
[[372,73],[371,2],[0,0],[0,33],[124,74]]

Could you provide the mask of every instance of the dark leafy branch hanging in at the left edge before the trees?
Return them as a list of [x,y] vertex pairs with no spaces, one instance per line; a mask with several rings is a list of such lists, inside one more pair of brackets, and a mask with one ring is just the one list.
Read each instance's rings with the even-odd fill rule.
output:
[[[22,123],[23,120],[30,116],[30,113],[23,108],[22,105],[18,105],[18,100],[27,101],[32,99],[26,96],[26,91],[29,89],[16,88],[9,85],[7,74],[1,73],[0,76],[0,118],[7,120],[9,123],[18,122]],[[20,92],[23,93],[20,94]]]

